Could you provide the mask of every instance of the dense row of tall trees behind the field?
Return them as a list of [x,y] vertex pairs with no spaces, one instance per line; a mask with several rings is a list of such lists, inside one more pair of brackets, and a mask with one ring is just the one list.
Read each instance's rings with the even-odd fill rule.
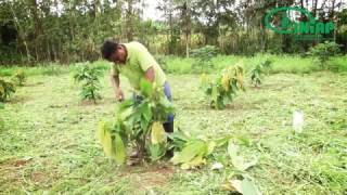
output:
[[[266,12],[303,6],[336,25],[330,37],[347,51],[347,9],[343,0],[160,0],[159,21],[144,18],[144,0],[5,0],[0,2],[0,64],[94,61],[106,38],[138,40],[152,53],[190,56],[215,46],[219,54],[303,54],[319,41],[295,41],[265,28]],[[307,21],[297,15],[299,21]]]

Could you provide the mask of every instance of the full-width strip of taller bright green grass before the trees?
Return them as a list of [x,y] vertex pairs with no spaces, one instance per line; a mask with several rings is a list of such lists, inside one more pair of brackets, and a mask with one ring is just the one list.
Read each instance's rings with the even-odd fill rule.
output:
[[[274,55],[274,54],[257,54],[253,57],[241,56],[241,55],[217,55],[211,58],[214,68],[209,69],[208,73],[216,73],[222,70],[227,66],[236,64],[237,62],[243,62],[246,70],[252,68],[254,65],[260,63],[265,58],[270,58],[272,63],[271,73],[292,73],[292,74],[308,74],[313,72],[319,72],[321,68],[318,63],[312,57],[301,57],[299,55]],[[192,65],[194,64],[194,58],[183,58],[178,56],[156,56],[156,60],[163,67],[163,69],[168,74],[182,75],[182,74],[193,74]],[[333,72],[347,72],[347,55],[332,57],[329,62],[329,67]],[[78,64],[78,63],[76,63]],[[36,75],[61,75],[73,72],[76,64],[70,64],[69,66],[61,66],[57,64],[48,64],[43,66],[28,67],[28,66],[9,66],[0,68],[1,76],[12,76],[14,70],[21,68],[28,76]],[[108,69],[110,64],[105,61],[97,61],[92,63],[94,66],[101,69]]]

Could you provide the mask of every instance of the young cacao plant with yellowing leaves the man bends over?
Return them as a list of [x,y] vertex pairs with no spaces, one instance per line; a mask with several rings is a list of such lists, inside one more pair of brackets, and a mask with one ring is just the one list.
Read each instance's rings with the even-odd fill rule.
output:
[[[133,143],[140,153],[149,154],[153,161],[162,158],[168,148],[163,122],[167,120],[168,114],[174,112],[172,104],[166,99],[160,87],[144,79],[137,96],[119,103],[114,123],[104,126],[104,122],[101,122],[99,129],[105,154],[114,157],[118,164],[126,159],[128,142]],[[116,157],[117,153],[121,155]]]

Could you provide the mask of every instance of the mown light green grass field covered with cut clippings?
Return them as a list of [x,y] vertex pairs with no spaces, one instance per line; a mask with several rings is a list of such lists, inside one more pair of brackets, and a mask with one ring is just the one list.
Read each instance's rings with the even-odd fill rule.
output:
[[[234,178],[233,167],[210,170],[223,153],[198,170],[167,161],[117,167],[95,136],[116,104],[108,77],[94,105],[80,100],[70,68],[37,69],[26,68],[28,81],[1,110],[0,194],[228,194],[221,185]],[[208,138],[234,135],[243,157],[258,158],[246,174],[264,194],[346,193],[347,74],[279,73],[259,88],[247,86],[224,110],[209,108],[197,75],[169,75],[176,127]],[[300,134],[292,129],[294,110],[305,115]]]

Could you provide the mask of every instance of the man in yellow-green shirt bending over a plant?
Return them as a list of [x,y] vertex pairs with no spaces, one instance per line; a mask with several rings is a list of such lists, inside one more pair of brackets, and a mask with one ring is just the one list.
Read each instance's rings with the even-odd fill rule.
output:
[[[128,43],[105,41],[101,52],[103,58],[114,63],[111,68],[111,81],[118,101],[124,100],[124,93],[119,84],[119,74],[127,77],[136,90],[139,90],[142,78],[155,82],[156,86],[163,86],[166,98],[170,102],[172,101],[170,86],[165,73],[143,44],[137,41]],[[163,126],[166,132],[174,132],[172,114],[168,116],[167,122]]]

